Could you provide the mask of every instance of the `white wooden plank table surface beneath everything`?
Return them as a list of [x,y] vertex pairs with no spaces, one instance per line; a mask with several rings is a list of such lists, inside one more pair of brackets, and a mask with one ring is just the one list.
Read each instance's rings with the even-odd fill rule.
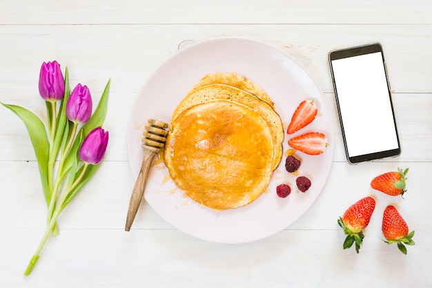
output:
[[[46,221],[27,132],[0,107],[0,287],[432,287],[432,3],[430,1],[1,1],[0,102],[45,114],[43,61],[70,70],[71,86],[101,95],[111,79],[108,151],[101,169],[59,218],[37,267],[23,277]],[[124,231],[135,179],[126,151],[132,104],[146,79],[188,44],[239,36],[281,48],[315,79],[333,113],[335,154],[320,197],[274,236],[217,244],[188,236],[143,203]],[[327,55],[379,41],[393,89],[399,157],[347,164]],[[405,199],[369,182],[409,167]],[[337,218],[377,195],[360,254],[343,250]],[[388,197],[388,198],[385,198]],[[396,204],[416,245],[404,256],[380,239],[381,213]]]

